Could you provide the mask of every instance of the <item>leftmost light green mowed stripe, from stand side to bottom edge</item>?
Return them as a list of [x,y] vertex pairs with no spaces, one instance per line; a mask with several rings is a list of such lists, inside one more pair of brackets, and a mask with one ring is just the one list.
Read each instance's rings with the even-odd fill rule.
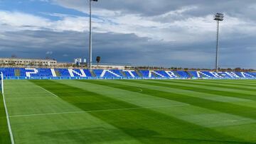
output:
[[[82,111],[77,106],[45,92],[31,81],[6,80],[6,83],[9,84],[9,87],[5,87],[6,92],[9,92],[6,95],[6,103],[8,103],[9,111],[13,111],[12,113],[9,112],[9,114],[13,116],[16,116],[16,114]],[[16,96],[11,94],[11,92],[15,92],[16,89],[18,89],[18,92],[21,92],[18,95],[20,98],[27,98],[26,92],[28,94],[35,92],[35,97],[45,97],[45,99],[13,99]],[[114,126],[88,113],[11,117],[11,126],[15,135],[16,144],[139,143],[134,138],[114,128]]]

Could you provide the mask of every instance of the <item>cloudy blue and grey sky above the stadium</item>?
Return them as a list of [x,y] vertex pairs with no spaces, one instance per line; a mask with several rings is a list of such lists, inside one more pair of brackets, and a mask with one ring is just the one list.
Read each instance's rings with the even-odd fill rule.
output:
[[[88,58],[89,0],[0,0],[0,57]],[[92,1],[93,61],[256,69],[255,0]]]

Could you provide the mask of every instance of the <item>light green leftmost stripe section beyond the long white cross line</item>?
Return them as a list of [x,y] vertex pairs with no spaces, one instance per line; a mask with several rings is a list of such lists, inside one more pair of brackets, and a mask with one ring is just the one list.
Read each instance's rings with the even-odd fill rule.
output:
[[5,84],[9,84],[5,87],[9,116],[79,111],[77,107],[58,99],[28,80],[6,80]]

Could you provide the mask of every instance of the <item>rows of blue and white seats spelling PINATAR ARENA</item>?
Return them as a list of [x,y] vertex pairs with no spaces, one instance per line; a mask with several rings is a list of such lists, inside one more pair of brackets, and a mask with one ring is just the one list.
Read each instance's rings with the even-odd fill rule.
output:
[[[14,77],[15,72],[18,70],[20,72],[20,77],[54,77],[54,72],[59,73],[61,77],[92,77],[92,74],[89,70],[80,70],[80,69],[55,69],[52,71],[49,68],[0,68],[0,72],[3,72],[6,77]],[[158,71],[149,71],[149,70],[140,70],[139,73],[133,71],[127,72],[122,70],[93,70],[96,77],[106,77],[106,78],[117,78],[117,77],[209,77],[209,78],[256,78],[256,72],[208,72],[208,71],[167,71],[158,70]],[[103,73],[104,72],[104,73]],[[150,72],[150,73],[149,73]],[[102,73],[104,75],[102,75]],[[132,74],[131,74],[132,73]],[[171,74],[171,75],[170,75]],[[217,76],[218,75],[218,76]]]

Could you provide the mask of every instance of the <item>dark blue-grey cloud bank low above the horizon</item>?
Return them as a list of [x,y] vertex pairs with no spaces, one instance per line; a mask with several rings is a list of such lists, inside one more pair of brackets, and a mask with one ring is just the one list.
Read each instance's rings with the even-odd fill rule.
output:
[[[18,57],[45,58],[52,54],[50,57],[59,62],[70,62],[75,57],[88,57],[87,32],[18,31],[6,32],[4,35],[6,39],[0,38],[0,57],[15,54]],[[16,35],[23,36],[16,40]],[[95,33],[94,37],[93,57],[100,55],[102,62],[165,67],[214,67],[214,43],[159,43],[134,34],[120,33]],[[236,43],[223,43],[225,47],[220,47],[220,65],[256,67],[253,56],[256,55],[253,46],[255,43],[250,42],[250,39],[242,38],[236,40]],[[247,48],[241,50],[239,45],[244,43]]]

